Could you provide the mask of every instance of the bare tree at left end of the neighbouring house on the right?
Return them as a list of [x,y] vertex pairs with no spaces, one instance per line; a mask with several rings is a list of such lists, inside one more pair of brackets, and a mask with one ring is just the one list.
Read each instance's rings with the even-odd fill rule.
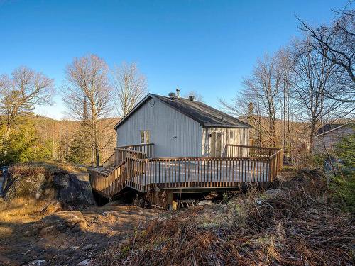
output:
[[293,96],[300,106],[299,117],[309,123],[309,144],[312,150],[317,125],[324,116],[340,112],[339,108],[343,105],[341,101],[329,99],[324,94],[325,91],[336,91],[337,84],[332,82],[336,65],[310,49],[308,40],[295,41],[293,47],[293,71],[296,75]]

